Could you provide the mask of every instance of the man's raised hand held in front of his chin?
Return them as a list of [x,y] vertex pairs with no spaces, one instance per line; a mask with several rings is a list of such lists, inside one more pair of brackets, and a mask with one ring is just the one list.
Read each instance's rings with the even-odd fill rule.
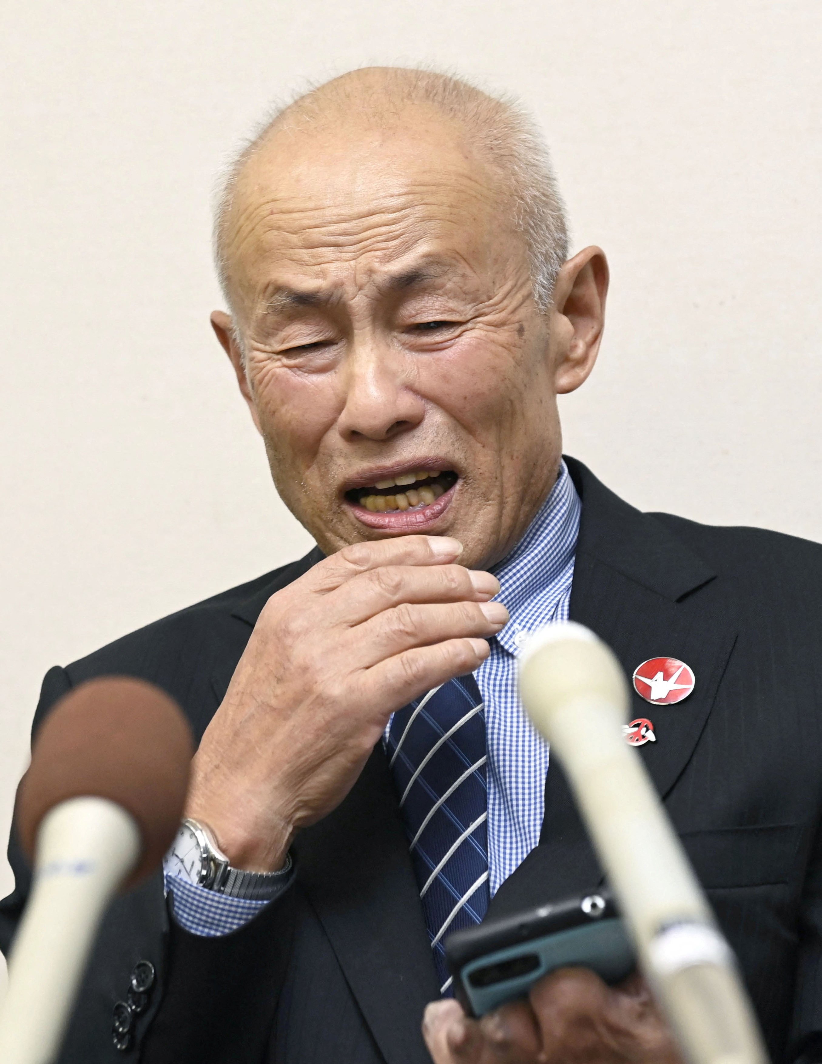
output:
[[282,867],[345,798],[391,713],[488,656],[507,621],[455,539],[345,547],[266,603],[191,766],[186,815],[235,867]]

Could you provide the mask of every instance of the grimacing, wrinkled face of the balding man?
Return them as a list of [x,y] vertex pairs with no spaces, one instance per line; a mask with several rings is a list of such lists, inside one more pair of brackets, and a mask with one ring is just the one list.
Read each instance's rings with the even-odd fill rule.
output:
[[241,384],[326,554],[426,533],[487,567],[550,491],[559,355],[509,214],[421,109],[275,134],[247,165],[227,242]]

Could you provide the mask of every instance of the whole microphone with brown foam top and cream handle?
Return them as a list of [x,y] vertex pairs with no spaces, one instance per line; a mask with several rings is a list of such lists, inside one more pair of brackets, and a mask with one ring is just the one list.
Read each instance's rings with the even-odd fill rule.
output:
[[192,752],[177,703],[127,677],[81,684],[39,729],[17,791],[34,877],[0,1008],[3,1064],[55,1059],[110,900],[153,871],[178,830]]

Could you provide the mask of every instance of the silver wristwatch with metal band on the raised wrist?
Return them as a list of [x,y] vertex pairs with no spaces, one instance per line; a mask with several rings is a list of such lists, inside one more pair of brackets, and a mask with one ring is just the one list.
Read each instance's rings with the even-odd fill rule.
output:
[[285,884],[291,870],[290,855],[286,859],[285,868],[279,871],[232,868],[211,829],[190,817],[180,825],[163,864],[166,872],[196,886],[251,901],[271,899]]

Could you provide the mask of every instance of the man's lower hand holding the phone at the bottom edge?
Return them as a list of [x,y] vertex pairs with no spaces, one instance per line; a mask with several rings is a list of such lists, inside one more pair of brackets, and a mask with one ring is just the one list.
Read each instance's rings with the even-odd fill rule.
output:
[[554,971],[479,1020],[435,1001],[422,1033],[434,1064],[682,1064],[643,980],[611,987],[589,968]]

